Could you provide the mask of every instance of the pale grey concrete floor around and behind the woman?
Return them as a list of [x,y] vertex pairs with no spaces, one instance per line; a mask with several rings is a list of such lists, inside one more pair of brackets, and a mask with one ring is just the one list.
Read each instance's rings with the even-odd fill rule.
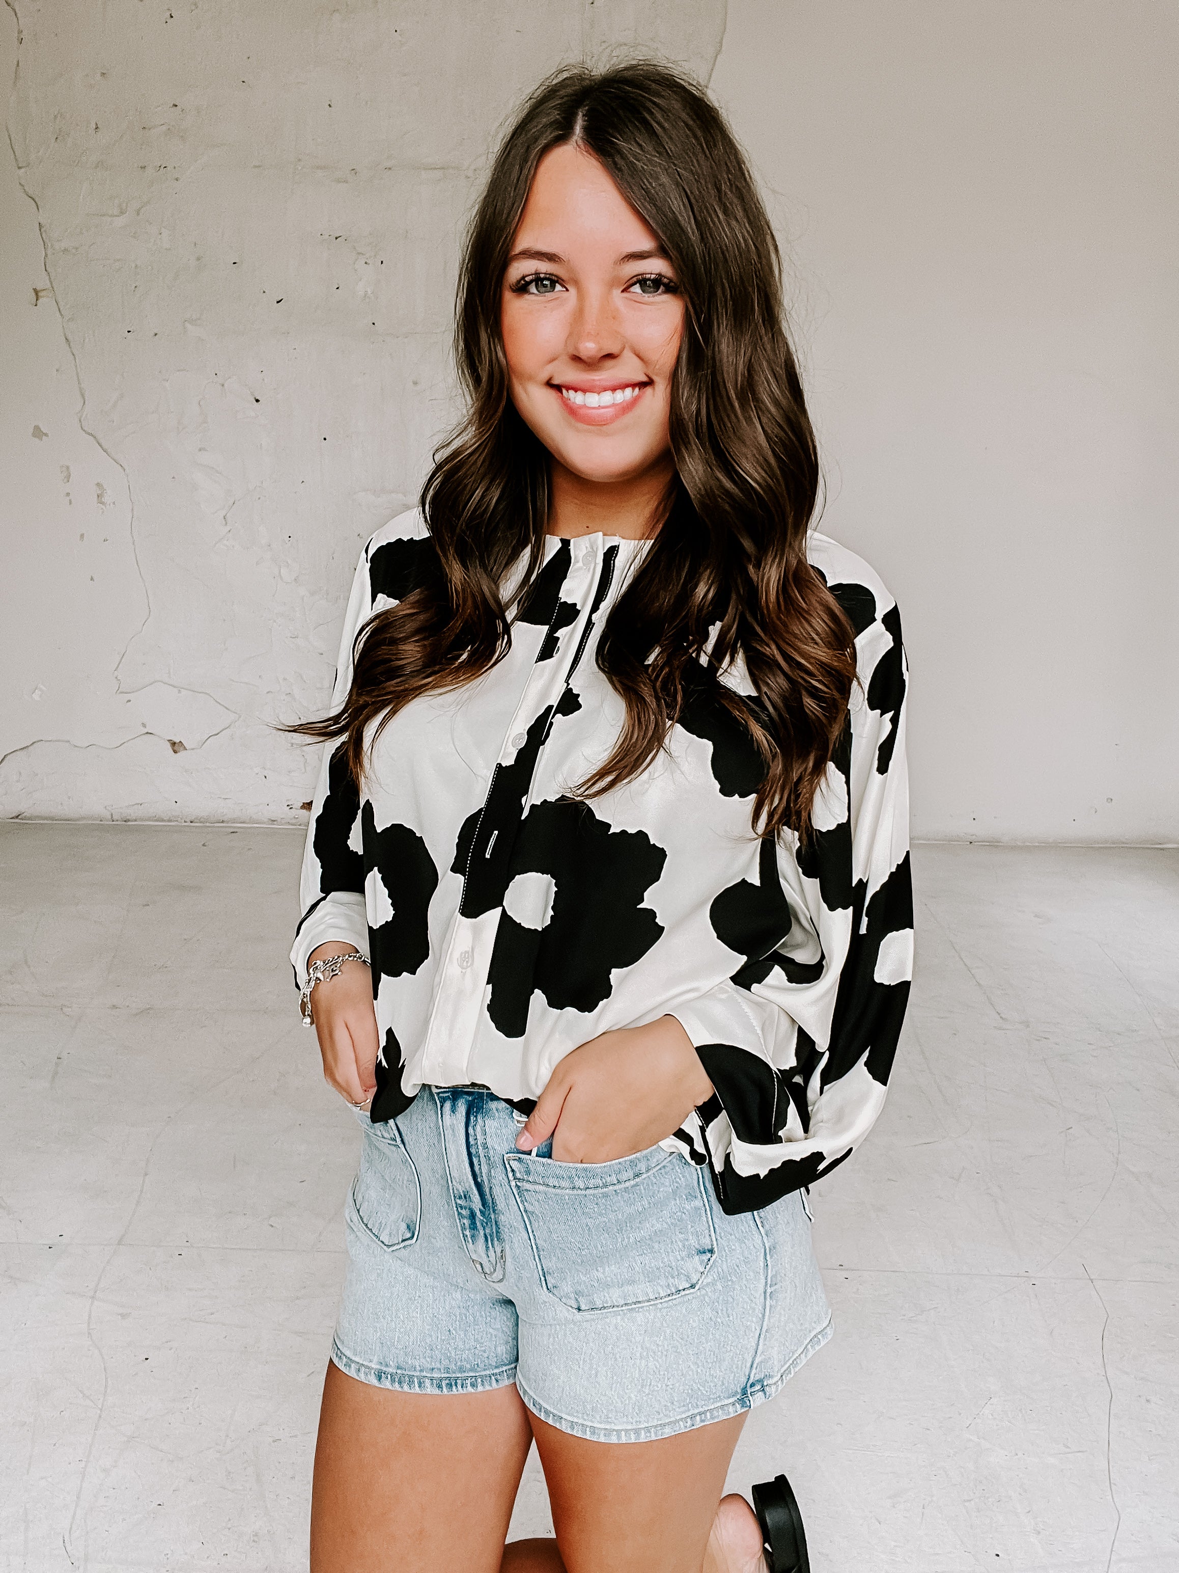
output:
[[[0,1573],[305,1567],[357,1133],[299,853],[0,826]],[[731,1483],[789,1472],[814,1573],[1176,1573],[1179,853],[915,865],[888,1107],[816,1191],[836,1337]]]

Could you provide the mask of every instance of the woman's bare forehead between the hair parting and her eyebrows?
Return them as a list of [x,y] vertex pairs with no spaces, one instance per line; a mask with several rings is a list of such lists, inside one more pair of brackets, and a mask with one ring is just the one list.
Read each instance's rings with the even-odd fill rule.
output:
[[564,143],[550,148],[536,165],[512,250],[533,247],[571,256],[574,249],[604,249],[613,260],[657,244],[597,159]]

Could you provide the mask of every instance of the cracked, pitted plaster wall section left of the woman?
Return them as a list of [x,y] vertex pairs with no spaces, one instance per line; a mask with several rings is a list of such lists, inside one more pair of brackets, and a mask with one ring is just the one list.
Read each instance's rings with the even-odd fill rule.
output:
[[563,60],[723,0],[9,0],[0,813],[299,820],[363,540],[454,404],[462,219]]

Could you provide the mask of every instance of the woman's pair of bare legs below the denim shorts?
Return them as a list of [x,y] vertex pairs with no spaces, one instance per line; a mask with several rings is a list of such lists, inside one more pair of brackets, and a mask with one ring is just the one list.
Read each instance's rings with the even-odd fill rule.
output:
[[[530,1416],[512,1386],[391,1392],[329,1365],[311,1573],[764,1573],[748,1502],[717,1505],[742,1422],[588,1442]],[[505,1548],[533,1431],[558,1540]]]

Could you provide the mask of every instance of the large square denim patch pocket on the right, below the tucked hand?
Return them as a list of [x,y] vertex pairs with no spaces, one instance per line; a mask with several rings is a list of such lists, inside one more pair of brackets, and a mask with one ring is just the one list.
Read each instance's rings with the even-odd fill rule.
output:
[[703,1170],[651,1147],[608,1164],[506,1153],[545,1290],[571,1310],[651,1306],[693,1290],[717,1254]]

